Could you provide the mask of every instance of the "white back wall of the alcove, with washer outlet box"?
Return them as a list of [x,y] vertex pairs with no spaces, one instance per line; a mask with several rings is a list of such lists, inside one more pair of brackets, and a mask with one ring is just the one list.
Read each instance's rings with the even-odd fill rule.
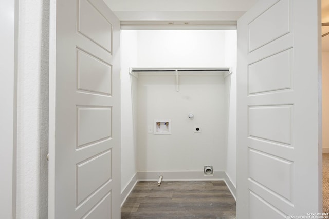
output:
[[[225,66],[224,37],[224,31],[138,31],[137,67]],[[138,171],[203,171],[204,165],[224,171],[223,76],[180,76],[179,84],[176,92],[174,75],[138,78]],[[147,133],[156,118],[172,120],[171,135]]]

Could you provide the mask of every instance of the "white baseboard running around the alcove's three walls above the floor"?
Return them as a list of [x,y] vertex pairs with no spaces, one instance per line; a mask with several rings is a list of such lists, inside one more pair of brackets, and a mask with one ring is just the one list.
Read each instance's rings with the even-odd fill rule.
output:
[[236,188],[231,182],[230,178],[224,171],[214,171],[213,175],[204,175],[203,171],[181,171],[181,172],[137,172],[121,192],[121,206],[124,204],[126,198],[133,190],[138,181],[158,181],[160,175],[163,176],[162,181],[211,181],[223,180],[231,191],[236,200]]

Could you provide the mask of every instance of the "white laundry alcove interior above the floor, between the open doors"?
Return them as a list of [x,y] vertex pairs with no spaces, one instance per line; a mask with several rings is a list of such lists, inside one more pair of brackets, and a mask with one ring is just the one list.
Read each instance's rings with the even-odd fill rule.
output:
[[121,48],[122,201],[159,176],[234,195],[236,31],[122,30]]

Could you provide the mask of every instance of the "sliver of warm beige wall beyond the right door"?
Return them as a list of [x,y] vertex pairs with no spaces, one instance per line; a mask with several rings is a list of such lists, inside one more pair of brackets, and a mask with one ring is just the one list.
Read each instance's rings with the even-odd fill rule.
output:
[[322,147],[329,153],[329,52],[322,52]]

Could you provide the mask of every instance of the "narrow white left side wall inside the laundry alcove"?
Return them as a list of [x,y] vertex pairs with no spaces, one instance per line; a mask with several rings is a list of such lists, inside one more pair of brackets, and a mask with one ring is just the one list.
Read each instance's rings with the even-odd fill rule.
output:
[[137,142],[134,98],[137,93],[136,78],[131,78],[129,68],[137,66],[137,32],[121,32],[121,192],[137,172]]

